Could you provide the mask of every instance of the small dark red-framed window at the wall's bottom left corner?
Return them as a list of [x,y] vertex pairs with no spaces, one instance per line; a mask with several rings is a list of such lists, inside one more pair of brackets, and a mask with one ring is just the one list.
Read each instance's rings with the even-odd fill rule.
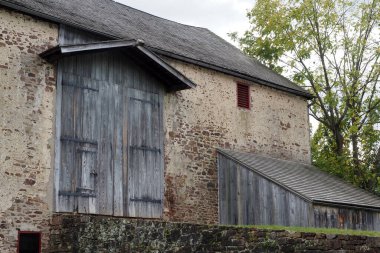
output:
[[18,253],[41,253],[41,233],[19,231]]

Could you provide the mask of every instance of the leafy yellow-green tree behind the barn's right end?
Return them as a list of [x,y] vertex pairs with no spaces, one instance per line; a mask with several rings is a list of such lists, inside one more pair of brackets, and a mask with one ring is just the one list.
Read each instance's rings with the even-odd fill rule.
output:
[[372,191],[380,182],[380,0],[257,0],[230,36],[314,96],[313,162]]

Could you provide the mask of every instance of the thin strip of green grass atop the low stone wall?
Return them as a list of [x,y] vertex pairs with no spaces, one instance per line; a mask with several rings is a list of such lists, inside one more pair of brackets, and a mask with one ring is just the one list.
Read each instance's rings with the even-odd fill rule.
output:
[[252,225],[252,226],[239,226],[245,228],[259,228],[268,230],[286,230],[290,232],[305,232],[305,233],[323,233],[323,234],[337,234],[337,235],[363,235],[370,237],[380,237],[380,232],[376,231],[362,231],[362,230],[348,230],[336,228],[307,228],[307,227],[283,227],[271,225]]

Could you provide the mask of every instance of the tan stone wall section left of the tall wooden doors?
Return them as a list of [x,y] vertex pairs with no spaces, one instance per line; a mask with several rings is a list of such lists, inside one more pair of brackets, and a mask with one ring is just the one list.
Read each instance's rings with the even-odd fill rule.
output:
[[56,25],[0,7],[0,252],[17,230],[42,231],[52,203],[54,67],[38,53],[56,45]]

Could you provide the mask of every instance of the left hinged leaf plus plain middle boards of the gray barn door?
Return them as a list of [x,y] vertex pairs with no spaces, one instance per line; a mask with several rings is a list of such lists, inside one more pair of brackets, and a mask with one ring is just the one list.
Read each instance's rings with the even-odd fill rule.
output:
[[62,77],[58,212],[124,216],[127,113],[117,84]]

